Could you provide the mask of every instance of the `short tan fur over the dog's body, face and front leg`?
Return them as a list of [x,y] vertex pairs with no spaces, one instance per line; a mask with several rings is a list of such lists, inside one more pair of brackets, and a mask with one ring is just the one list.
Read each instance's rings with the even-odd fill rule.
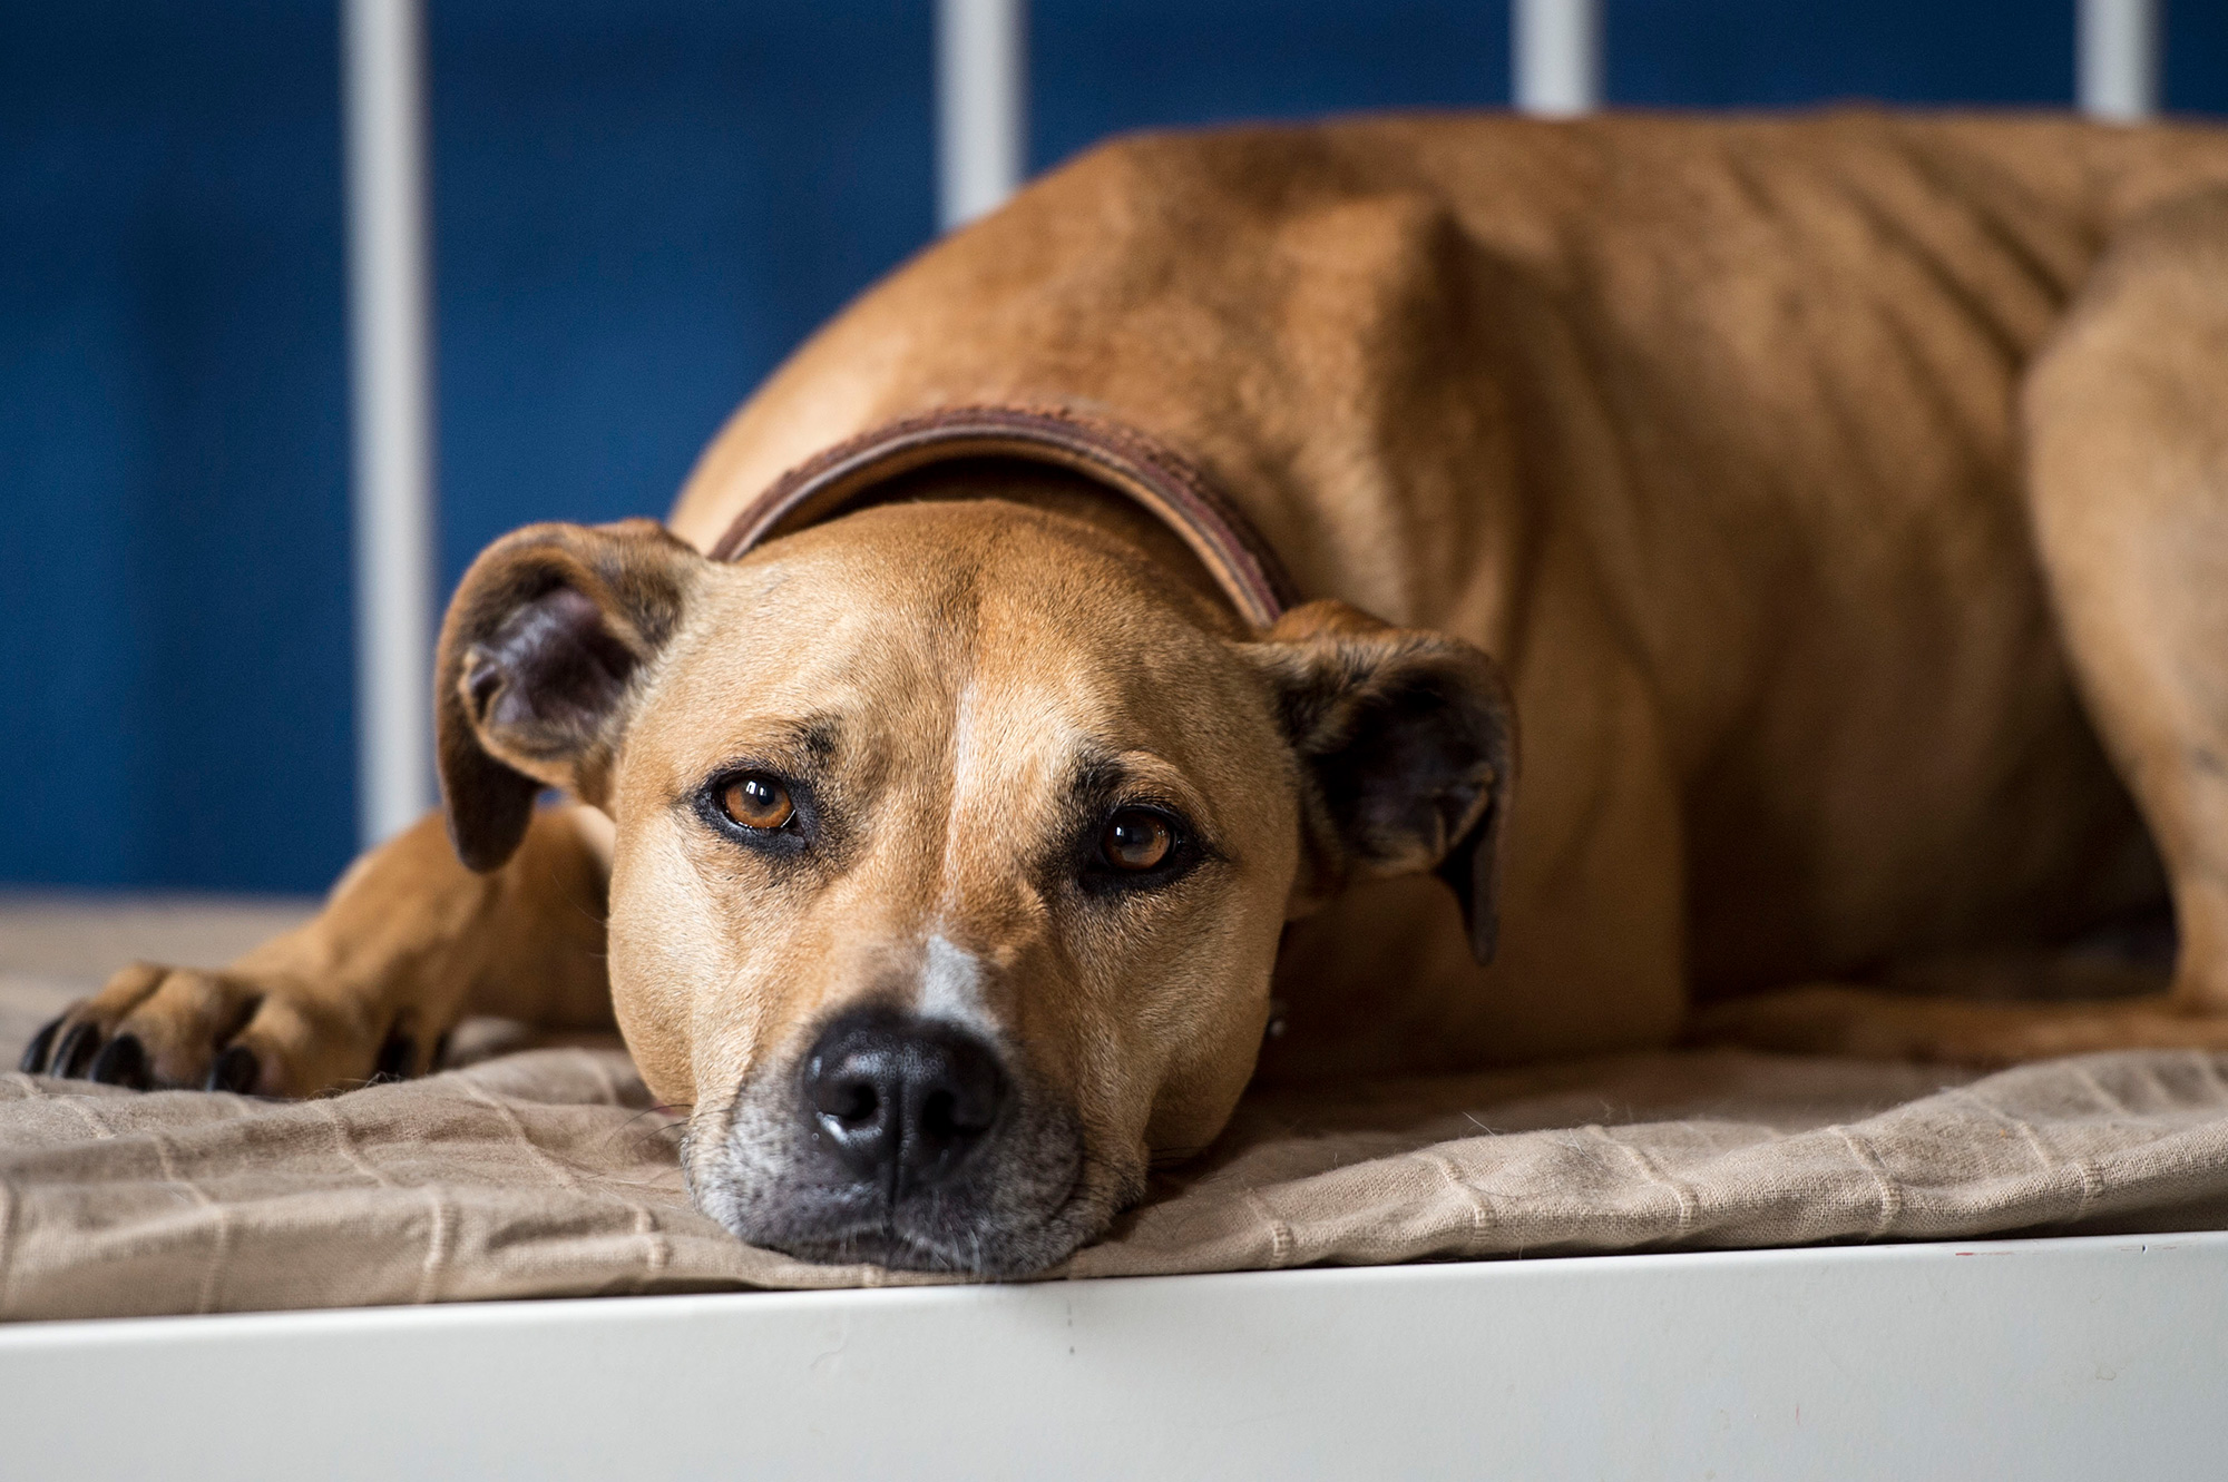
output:
[[[704,550],[784,467],[960,403],[1163,438],[1310,596],[1499,661],[1524,730],[1499,961],[1428,877],[1308,854],[1266,670],[1163,532],[1049,474],[929,474],[925,503],[735,567],[626,547],[688,596],[582,790],[617,823],[613,990],[662,1095],[720,1104],[947,932],[1076,1097],[1110,1213],[1254,1068],[1286,915],[1286,1077],[1682,1033],[2228,1046],[2228,134],[1838,113],[1110,145],[822,329],[671,527]],[[813,714],[853,739],[876,834],[784,895],[675,799]],[[1150,754],[1234,841],[1228,877],[1112,935],[1045,917],[1014,861],[1076,734]],[[256,1041],[265,1088],[361,1075],[397,1012],[430,1035],[530,977],[475,964],[490,932],[557,941],[570,886],[544,877],[593,872],[564,839],[541,814],[481,881],[412,834],[238,964],[292,1015]],[[2166,890],[2170,999],[1863,988]],[[192,1059],[216,990],[165,981],[85,1012]]]

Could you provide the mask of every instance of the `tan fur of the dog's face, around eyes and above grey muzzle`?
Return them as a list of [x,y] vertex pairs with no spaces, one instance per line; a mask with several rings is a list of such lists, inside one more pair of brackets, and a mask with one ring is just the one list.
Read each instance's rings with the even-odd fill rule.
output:
[[[802,1048],[833,1001],[916,977],[945,937],[983,959],[985,1008],[1085,1126],[1125,1148],[1147,1122],[1170,1146],[1214,1135],[1245,1073],[1199,1048],[1259,1041],[1268,1017],[1290,788],[1254,786],[1274,730],[1243,663],[1094,554],[1083,527],[893,507],[717,572],[639,703],[613,799],[613,988],[662,1095],[702,1106]],[[673,808],[735,757],[795,765],[791,732],[818,717],[840,728],[822,790],[871,799],[873,832],[827,881],[753,870]],[[1074,734],[1188,803],[1228,879],[1172,919],[1063,930],[1014,861],[1058,828],[1040,808]]]

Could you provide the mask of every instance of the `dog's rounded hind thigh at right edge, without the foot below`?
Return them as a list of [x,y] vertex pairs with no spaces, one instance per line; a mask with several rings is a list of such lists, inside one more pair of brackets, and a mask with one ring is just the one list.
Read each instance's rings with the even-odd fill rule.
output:
[[2023,412],[2074,679],[2166,863],[2175,1008],[2228,1015],[2228,191],[2119,236]]

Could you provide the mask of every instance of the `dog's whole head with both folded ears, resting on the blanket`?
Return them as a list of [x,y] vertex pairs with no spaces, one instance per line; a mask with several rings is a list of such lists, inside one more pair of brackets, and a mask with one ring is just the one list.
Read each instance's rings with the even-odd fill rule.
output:
[[1094,527],[851,514],[733,565],[646,521],[490,547],[441,636],[466,863],[613,817],[610,984],[700,1206],[813,1259],[1027,1273],[1203,1148],[1283,923],[1428,870],[1482,955],[1493,663],[1310,603],[1239,634]]

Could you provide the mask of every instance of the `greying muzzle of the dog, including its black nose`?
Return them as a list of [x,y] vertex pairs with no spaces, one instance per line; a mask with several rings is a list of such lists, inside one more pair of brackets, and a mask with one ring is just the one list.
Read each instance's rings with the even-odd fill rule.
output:
[[1025,1275],[1112,1215],[1083,1133],[971,1028],[860,1008],[691,1128],[704,1213],[813,1262]]

